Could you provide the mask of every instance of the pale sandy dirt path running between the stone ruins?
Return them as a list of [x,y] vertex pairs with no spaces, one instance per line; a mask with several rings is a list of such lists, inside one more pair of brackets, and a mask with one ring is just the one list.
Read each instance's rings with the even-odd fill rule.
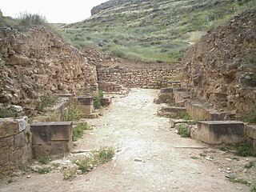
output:
[[190,158],[200,157],[208,146],[180,138],[168,118],[156,116],[157,93],[131,90],[126,98],[114,98],[101,118],[90,120],[95,130],[86,132],[75,150],[114,146],[119,152],[112,162],[72,181],[63,181],[59,171],[21,176],[10,184],[1,182],[0,191],[250,191],[229,182],[213,161]]

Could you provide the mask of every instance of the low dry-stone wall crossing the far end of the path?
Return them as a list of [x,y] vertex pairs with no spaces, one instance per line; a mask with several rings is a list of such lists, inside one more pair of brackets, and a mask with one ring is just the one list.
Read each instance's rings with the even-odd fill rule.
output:
[[170,78],[180,73],[173,66],[129,67],[129,66],[97,66],[100,89],[117,92],[122,87],[141,87],[156,89],[172,85]]

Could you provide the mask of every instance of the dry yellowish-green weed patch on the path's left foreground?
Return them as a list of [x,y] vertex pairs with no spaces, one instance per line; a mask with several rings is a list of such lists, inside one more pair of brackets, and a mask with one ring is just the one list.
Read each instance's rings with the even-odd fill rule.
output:
[[76,162],[78,170],[82,173],[89,172],[99,164],[109,162],[114,157],[114,147],[101,147],[100,150],[92,151],[89,157],[83,157]]

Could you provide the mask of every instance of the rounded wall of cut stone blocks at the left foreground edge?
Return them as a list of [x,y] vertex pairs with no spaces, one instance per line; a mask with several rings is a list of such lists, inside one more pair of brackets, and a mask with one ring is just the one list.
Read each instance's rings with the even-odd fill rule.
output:
[[0,174],[8,174],[32,158],[27,118],[0,118]]

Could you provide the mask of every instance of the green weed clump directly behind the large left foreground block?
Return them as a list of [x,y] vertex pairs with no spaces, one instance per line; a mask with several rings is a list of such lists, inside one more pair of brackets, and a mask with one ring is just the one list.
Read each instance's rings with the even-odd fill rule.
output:
[[78,121],[82,118],[81,112],[78,110],[76,105],[70,105],[62,112],[62,121],[63,122],[73,122]]

